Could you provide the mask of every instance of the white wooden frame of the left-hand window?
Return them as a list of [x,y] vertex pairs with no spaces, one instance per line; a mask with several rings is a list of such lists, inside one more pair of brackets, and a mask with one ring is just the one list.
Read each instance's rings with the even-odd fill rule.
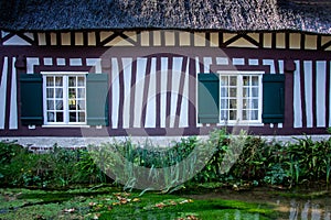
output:
[[[86,75],[88,72],[41,72],[43,75],[43,114],[44,125],[43,127],[86,127],[87,124],[87,110],[86,110]],[[49,122],[47,121],[47,99],[46,99],[46,77],[47,76],[60,76],[63,77],[63,122]],[[84,76],[85,78],[85,122],[70,122],[70,110],[68,110],[68,77],[70,76]]]

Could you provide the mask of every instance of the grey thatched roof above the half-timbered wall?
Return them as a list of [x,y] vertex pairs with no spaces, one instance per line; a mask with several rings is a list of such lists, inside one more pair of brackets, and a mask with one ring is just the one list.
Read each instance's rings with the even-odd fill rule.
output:
[[290,30],[331,34],[330,12],[330,0],[0,0],[0,29]]

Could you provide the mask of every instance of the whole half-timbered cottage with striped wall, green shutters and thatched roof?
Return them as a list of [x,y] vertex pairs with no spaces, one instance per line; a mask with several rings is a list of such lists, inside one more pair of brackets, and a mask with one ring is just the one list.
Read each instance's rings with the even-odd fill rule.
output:
[[2,138],[204,135],[224,127],[300,135],[331,127],[331,24],[318,13],[328,2],[205,1],[212,13],[183,1],[167,15],[158,14],[166,2],[96,1],[130,16],[114,12],[105,24],[107,7],[104,20],[56,23],[47,2],[31,2],[2,3],[18,15],[0,23]]

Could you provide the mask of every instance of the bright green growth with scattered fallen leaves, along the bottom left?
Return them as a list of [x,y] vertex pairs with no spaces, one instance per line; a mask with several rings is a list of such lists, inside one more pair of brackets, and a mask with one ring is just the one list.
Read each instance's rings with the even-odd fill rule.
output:
[[44,191],[0,189],[0,219],[275,219],[273,207],[116,188]]

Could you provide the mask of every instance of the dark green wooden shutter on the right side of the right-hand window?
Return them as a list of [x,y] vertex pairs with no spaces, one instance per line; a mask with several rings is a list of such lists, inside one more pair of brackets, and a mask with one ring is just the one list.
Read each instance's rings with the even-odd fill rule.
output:
[[266,74],[263,77],[263,122],[282,123],[285,106],[285,75]]

